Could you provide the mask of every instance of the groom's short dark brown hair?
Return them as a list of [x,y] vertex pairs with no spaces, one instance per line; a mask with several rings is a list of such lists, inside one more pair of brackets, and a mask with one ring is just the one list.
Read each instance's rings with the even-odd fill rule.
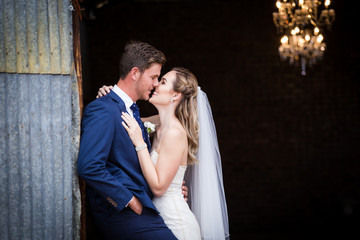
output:
[[151,64],[164,65],[165,62],[166,57],[160,50],[145,42],[130,41],[125,45],[120,58],[120,78],[124,79],[133,67],[137,67],[141,73],[144,73]]

